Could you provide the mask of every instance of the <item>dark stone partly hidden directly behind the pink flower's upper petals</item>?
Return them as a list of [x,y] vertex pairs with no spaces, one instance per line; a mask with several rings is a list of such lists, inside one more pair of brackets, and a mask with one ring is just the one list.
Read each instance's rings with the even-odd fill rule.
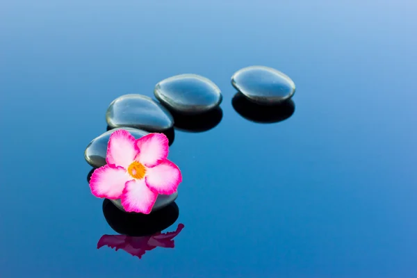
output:
[[111,133],[119,129],[129,131],[131,135],[133,135],[133,137],[136,139],[148,134],[147,131],[142,131],[140,129],[132,129],[131,127],[123,127],[106,131],[105,133],[101,134],[101,136],[98,136],[97,138],[93,139],[90,142],[90,144],[88,144],[88,146],[85,148],[84,158],[88,164],[96,168],[106,165],[108,140],[110,139]]

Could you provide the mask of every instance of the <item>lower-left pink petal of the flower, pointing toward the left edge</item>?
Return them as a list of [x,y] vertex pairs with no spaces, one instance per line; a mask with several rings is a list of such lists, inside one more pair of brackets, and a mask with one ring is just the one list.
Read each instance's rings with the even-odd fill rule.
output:
[[97,168],[91,175],[90,188],[93,195],[99,198],[119,199],[124,184],[131,177],[123,167],[104,165]]

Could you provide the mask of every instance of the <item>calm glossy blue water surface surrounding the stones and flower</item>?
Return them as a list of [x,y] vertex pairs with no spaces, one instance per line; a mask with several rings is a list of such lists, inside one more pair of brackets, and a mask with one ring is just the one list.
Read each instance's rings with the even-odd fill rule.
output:
[[[0,8],[0,277],[417,277],[417,4],[7,1]],[[236,113],[230,77],[277,68],[295,111]],[[92,196],[83,152],[130,92],[193,72],[222,118],[174,131],[174,248],[142,259]]]

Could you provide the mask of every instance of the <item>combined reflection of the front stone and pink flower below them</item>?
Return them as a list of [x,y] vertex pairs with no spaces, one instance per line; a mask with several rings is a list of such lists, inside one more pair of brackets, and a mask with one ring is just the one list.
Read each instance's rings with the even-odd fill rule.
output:
[[103,246],[115,248],[115,251],[121,249],[139,259],[145,252],[156,247],[174,248],[174,238],[184,227],[180,223],[175,231],[161,233],[179,217],[179,208],[175,202],[159,211],[144,215],[124,213],[110,200],[104,199],[103,213],[110,227],[119,234],[101,236],[97,249]]

